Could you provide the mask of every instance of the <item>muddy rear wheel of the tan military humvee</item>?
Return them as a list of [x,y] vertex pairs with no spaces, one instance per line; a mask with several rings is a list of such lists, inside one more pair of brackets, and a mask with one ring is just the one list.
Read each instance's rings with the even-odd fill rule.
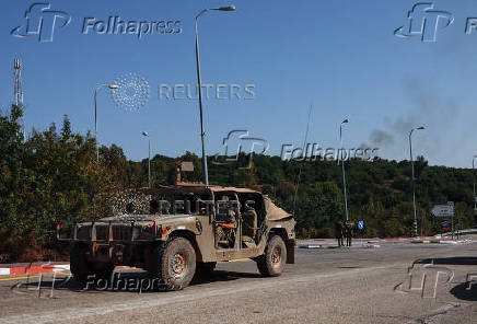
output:
[[257,259],[257,267],[261,276],[278,277],[283,273],[287,263],[287,246],[279,235],[268,239],[265,252]]

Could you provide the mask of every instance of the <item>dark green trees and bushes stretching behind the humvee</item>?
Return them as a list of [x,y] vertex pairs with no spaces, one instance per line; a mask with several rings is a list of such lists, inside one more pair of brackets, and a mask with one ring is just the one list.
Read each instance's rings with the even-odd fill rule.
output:
[[[55,239],[58,221],[85,220],[112,215],[118,193],[148,185],[148,160],[126,158],[117,144],[100,148],[95,139],[71,130],[65,116],[58,129],[33,129],[27,138],[16,120],[21,107],[0,115],[0,263],[59,259],[66,245]],[[283,161],[279,157],[241,153],[235,163],[225,157],[209,157],[211,184],[251,187],[263,192],[296,219],[300,238],[334,236],[344,216],[340,166],[336,161]],[[174,163],[190,161],[194,172],[184,182],[200,182],[201,159],[191,152],[151,159],[152,185],[173,184]],[[221,162],[221,163],[211,163]],[[249,167],[241,167],[249,166]],[[409,161],[375,159],[347,161],[349,215],[363,220],[364,236],[410,236],[414,233]],[[439,219],[430,215],[434,204],[455,201],[455,222],[474,227],[474,174],[468,169],[430,166],[415,162],[419,232],[435,234]],[[300,185],[298,184],[298,174]]]

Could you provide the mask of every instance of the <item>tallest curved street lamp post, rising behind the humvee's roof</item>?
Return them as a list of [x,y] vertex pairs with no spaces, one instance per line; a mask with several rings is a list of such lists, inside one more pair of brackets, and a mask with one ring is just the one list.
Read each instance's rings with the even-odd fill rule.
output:
[[206,155],[206,142],[205,136],[206,132],[203,130],[203,113],[202,113],[202,78],[200,76],[200,55],[199,55],[199,28],[198,22],[199,18],[210,10],[219,10],[219,11],[234,11],[235,5],[220,7],[220,8],[210,8],[203,9],[196,15],[196,63],[197,63],[197,81],[199,86],[199,109],[200,109],[200,139],[202,142],[202,169],[203,169],[203,184],[206,186],[209,185],[209,172],[207,169],[207,155]]

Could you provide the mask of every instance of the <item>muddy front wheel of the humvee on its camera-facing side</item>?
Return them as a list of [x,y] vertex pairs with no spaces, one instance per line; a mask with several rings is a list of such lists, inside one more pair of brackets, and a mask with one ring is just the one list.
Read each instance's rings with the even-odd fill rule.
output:
[[160,288],[182,290],[196,273],[196,252],[187,239],[171,238],[154,248],[151,274],[160,279]]

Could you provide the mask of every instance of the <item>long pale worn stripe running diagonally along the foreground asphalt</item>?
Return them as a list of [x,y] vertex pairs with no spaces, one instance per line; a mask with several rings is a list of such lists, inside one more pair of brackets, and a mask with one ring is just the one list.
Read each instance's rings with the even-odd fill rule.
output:
[[158,308],[172,303],[188,302],[195,300],[206,300],[211,297],[220,296],[236,296],[240,292],[255,291],[257,289],[277,289],[278,286],[287,284],[311,284],[317,280],[324,280],[327,278],[337,278],[342,276],[349,276],[353,274],[363,274],[381,269],[389,269],[396,266],[402,266],[400,263],[391,264],[387,266],[376,266],[369,268],[349,269],[345,271],[330,273],[330,274],[310,274],[306,276],[295,276],[290,278],[274,278],[264,279],[261,281],[254,280],[246,282],[245,285],[233,285],[232,287],[224,287],[221,289],[206,288],[201,290],[185,290],[181,292],[173,293],[153,293],[153,294],[142,294],[136,301],[123,301],[114,303],[105,303],[98,306],[90,308],[69,308],[63,310],[56,310],[55,312],[37,312],[32,314],[13,315],[0,319],[0,324],[11,324],[11,323],[24,323],[24,324],[46,324],[51,322],[69,322],[79,319],[85,319],[90,316],[98,315],[110,315],[115,312],[126,312],[132,310],[140,310],[147,308]]

